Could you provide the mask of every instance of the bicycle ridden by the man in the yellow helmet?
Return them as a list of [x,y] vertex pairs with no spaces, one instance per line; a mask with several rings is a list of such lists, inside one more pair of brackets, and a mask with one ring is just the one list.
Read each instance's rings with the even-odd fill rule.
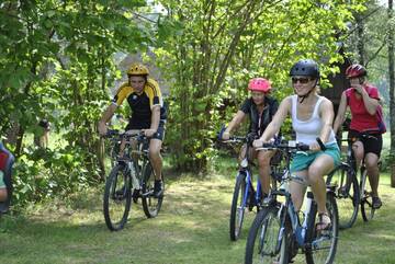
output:
[[159,214],[163,196],[154,196],[155,172],[148,157],[149,139],[140,130],[109,130],[106,137],[113,145],[125,142],[125,154],[116,157],[105,181],[103,196],[105,223],[110,230],[117,231],[127,221],[132,198],[135,203],[142,198],[145,215],[153,218]]

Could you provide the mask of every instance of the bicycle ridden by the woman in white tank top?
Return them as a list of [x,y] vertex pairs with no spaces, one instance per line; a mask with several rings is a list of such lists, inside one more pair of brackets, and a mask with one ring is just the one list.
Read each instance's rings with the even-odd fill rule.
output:
[[[285,169],[283,174],[275,179],[280,187],[270,191],[264,205],[252,222],[246,244],[245,263],[287,264],[300,249],[305,254],[308,264],[332,263],[339,231],[334,186],[327,186],[326,204],[331,225],[328,229],[318,231],[315,228],[319,220],[313,193],[307,191],[302,220],[300,214],[295,211],[287,188],[290,181],[305,184],[303,179],[291,175],[290,161],[295,152],[308,150],[308,146],[295,141],[282,141],[264,144],[262,149],[281,151],[285,159]],[[282,202],[278,199],[279,196],[282,197]]]

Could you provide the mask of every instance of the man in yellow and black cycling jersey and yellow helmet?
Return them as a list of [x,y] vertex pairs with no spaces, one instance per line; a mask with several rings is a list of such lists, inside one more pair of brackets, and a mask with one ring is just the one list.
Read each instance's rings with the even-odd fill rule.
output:
[[149,158],[156,175],[154,195],[159,197],[163,193],[160,149],[165,136],[166,110],[159,85],[148,78],[148,74],[147,67],[132,64],[127,71],[128,81],[120,87],[112,104],[103,112],[98,129],[101,135],[106,134],[106,123],[126,99],[132,108],[132,116],[125,129],[142,129],[145,136],[150,138]]

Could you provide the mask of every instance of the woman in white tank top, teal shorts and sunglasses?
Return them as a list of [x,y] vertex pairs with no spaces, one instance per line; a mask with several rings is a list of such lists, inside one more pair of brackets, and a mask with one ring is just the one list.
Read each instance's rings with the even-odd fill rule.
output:
[[[306,184],[312,186],[317,203],[317,230],[328,229],[330,218],[326,208],[326,184],[324,175],[328,174],[340,163],[340,150],[332,130],[334,106],[329,100],[317,95],[319,69],[312,59],[297,61],[290,71],[294,95],[285,97],[255,147],[268,142],[280,130],[287,115],[292,117],[292,127],[296,131],[296,140],[309,146],[311,151],[296,153],[293,157],[290,171],[301,179],[301,182],[290,183],[290,193],[295,209],[300,210],[303,203]],[[316,138],[325,144],[321,150]]]

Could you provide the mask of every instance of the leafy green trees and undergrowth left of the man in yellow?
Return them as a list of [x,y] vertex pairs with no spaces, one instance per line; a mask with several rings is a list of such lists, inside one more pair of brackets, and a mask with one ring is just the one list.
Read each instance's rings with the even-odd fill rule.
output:
[[[142,0],[0,3],[0,131],[19,157],[18,202],[67,194],[103,176],[97,120],[119,77],[113,55],[155,41],[151,26],[136,19],[145,5]],[[37,133],[42,118],[61,131],[64,147],[33,149],[24,140]]]

